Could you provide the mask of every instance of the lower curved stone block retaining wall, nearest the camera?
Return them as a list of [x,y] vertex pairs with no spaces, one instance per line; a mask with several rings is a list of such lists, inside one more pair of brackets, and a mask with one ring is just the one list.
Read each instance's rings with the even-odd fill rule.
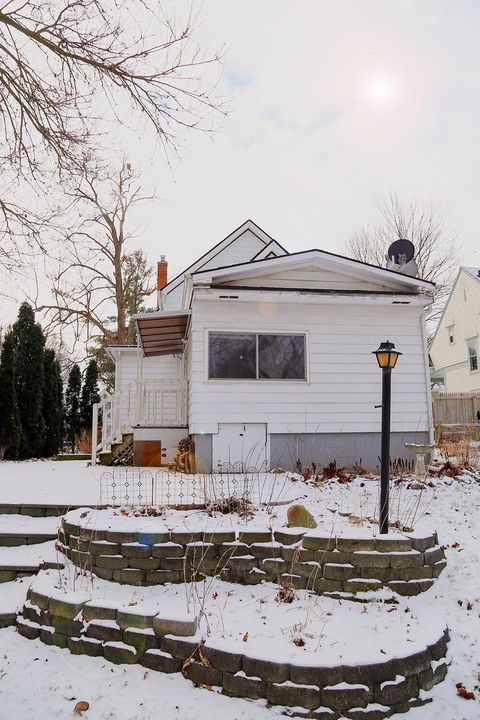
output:
[[[448,630],[411,655],[365,665],[296,665],[218,649],[196,636],[192,616],[143,615],[134,608],[101,607],[95,601],[35,589],[27,593],[18,632],[75,654],[103,656],[114,663],[140,663],[164,673],[182,672],[199,685],[227,695],[266,698],[292,708],[290,714],[317,720],[383,720],[423,704],[421,690],[443,680]],[[193,637],[192,637],[193,635]],[[305,708],[305,710],[302,710]]]

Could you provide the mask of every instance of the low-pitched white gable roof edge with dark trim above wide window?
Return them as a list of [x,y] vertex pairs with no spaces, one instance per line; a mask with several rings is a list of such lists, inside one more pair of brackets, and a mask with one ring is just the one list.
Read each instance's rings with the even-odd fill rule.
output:
[[290,267],[321,267],[322,269],[331,269],[337,272],[348,273],[354,277],[365,280],[373,280],[383,282],[385,285],[394,288],[421,288],[432,291],[435,283],[421,278],[411,277],[395,270],[387,270],[376,265],[361,262],[347,258],[343,255],[327,252],[325,250],[303,250],[301,252],[290,253],[275,258],[265,258],[262,260],[252,260],[237,265],[228,265],[215,269],[196,270],[192,274],[194,284],[196,282],[218,282],[228,279],[241,279],[242,277],[261,276],[263,273],[272,273],[281,271]]

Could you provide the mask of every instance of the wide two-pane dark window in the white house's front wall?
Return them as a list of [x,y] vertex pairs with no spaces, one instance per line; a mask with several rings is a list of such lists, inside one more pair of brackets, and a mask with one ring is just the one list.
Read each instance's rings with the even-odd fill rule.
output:
[[212,332],[208,337],[208,377],[305,380],[305,335]]

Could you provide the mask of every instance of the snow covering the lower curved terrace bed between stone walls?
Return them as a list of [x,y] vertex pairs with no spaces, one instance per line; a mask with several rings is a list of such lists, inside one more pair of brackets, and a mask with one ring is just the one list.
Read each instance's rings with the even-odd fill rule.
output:
[[[69,590],[72,582],[75,593]],[[208,578],[202,583],[133,587],[76,577],[68,561],[63,571],[40,572],[32,588],[55,597],[64,588],[65,599],[72,602],[91,597],[101,606],[105,599],[110,606],[115,601],[122,611],[158,613],[170,620],[199,616],[197,640],[262,660],[299,665],[375,663],[384,662],[386,656],[404,657],[434,643],[446,626],[441,612],[430,612],[417,598],[401,599],[393,606],[383,602],[365,606],[299,590],[294,602],[282,603],[276,600],[274,583],[243,586]],[[295,643],[298,638],[304,645]]]

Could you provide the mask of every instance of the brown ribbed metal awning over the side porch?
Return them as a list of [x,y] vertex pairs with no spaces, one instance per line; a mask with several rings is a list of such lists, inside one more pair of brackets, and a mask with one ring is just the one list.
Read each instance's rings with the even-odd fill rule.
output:
[[191,310],[135,315],[140,347],[144,356],[182,353],[190,314]]

